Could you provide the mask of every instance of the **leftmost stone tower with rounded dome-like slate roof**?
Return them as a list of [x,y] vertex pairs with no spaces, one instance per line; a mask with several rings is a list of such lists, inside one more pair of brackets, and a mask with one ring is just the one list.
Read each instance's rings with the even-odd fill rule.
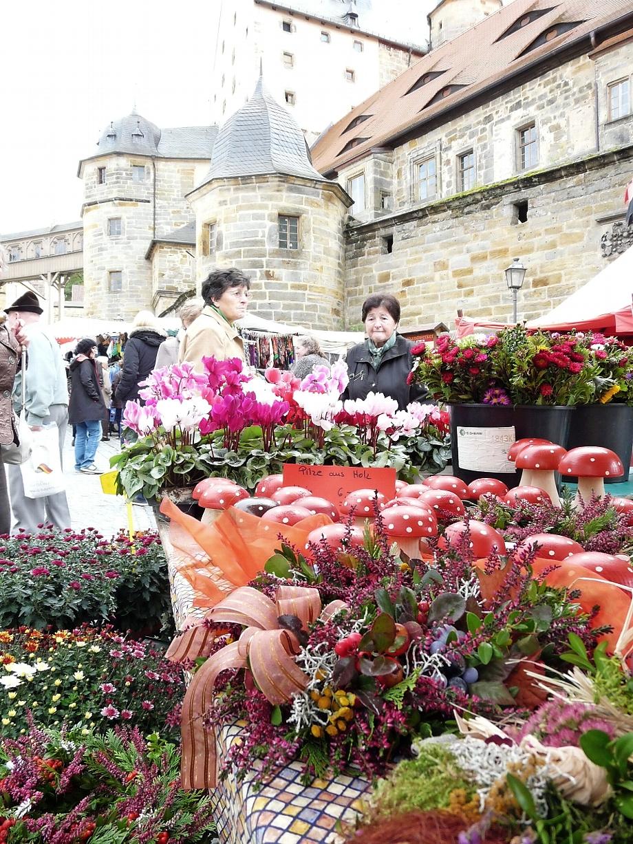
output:
[[98,151],[79,164],[88,317],[130,318],[151,308],[152,268],[145,253],[155,230],[159,143],[159,127],[133,111],[111,122]]

